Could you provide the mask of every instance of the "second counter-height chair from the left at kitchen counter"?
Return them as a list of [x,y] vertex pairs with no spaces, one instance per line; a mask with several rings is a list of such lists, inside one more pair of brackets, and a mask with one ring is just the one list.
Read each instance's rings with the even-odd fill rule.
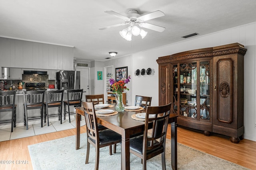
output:
[[[43,110],[44,110],[44,90],[31,90],[23,91],[24,100],[24,125],[28,130],[28,120],[41,119],[41,127],[43,127]],[[35,115],[34,112],[30,112],[28,116],[28,110],[40,109],[40,115]]]

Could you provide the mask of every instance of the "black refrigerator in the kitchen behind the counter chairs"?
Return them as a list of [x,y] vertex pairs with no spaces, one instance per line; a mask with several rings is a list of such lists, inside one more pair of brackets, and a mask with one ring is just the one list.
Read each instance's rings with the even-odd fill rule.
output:
[[58,71],[56,81],[59,90],[80,89],[80,71]]

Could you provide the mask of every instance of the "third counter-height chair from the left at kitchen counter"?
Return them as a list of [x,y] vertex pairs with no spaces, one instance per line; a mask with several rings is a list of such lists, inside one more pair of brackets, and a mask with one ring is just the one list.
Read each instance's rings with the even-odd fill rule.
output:
[[[49,117],[58,116],[60,124],[62,124],[62,102],[63,102],[63,93],[64,90],[47,90],[45,93],[45,102],[44,102],[44,123],[47,122],[49,126]],[[49,115],[49,108],[58,107],[58,113],[53,113]]]

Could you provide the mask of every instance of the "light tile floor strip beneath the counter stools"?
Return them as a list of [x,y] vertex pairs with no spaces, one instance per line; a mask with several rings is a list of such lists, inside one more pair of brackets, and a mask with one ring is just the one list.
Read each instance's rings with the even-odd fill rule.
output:
[[[11,127],[6,128],[6,126],[0,126],[0,142],[75,128],[75,116],[70,116],[70,121],[69,123],[68,119],[62,120],[62,124],[60,124],[58,118],[53,118],[49,119],[49,126],[46,122],[43,123],[43,127],[41,127],[40,121],[28,121],[28,130],[26,130],[24,123],[19,123],[13,128],[12,133]],[[84,117],[82,117],[80,124],[81,126],[85,125]]]

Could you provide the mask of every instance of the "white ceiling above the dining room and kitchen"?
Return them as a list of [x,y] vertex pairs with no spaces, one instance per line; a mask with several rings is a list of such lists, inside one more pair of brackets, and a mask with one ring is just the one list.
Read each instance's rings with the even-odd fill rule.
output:
[[[141,15],[164,12],[146,22],[165,31],[144,29],[144,39],[126,41],[119,31],[128,25],[98,29],[124,22],[104,11],[127,16],[132,9]],[[106,61],[110,51],[120,57],[183,41],[191,33],[205,35],[254,22],[255,9],[256,0],[0,0],[0,37],[74,46],[76,59]]]

